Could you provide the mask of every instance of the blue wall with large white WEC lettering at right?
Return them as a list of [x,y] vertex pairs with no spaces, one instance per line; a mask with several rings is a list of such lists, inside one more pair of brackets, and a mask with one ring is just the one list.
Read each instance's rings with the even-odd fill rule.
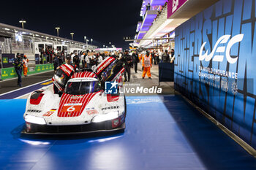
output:
[[174,82],[256,149],[255,4],[218,1],[176,28]]

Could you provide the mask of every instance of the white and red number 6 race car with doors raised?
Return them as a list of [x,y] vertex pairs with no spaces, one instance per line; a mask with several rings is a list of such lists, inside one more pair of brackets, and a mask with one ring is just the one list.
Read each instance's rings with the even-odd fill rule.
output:
[[28,98],[23,134],[82,134],[124,131],[126,101],[122,93],[105,94],[105,82],[122,88],[124,68],[115,58],[105,58],[96,72],[73,72],[64,64],[53,76],[61,93],[36,90]]

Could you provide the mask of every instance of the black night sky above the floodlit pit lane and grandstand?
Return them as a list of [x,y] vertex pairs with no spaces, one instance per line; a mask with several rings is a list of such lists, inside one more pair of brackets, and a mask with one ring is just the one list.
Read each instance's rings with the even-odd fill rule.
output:
[[[140,18],[142,0],[44,0],[2,1],[0,22],[56,36],[56,26],[61,27],[59,36],[84,42],[83,36],[94,39],[93,45],[102,47],[109,42],[116,47],[129,47],[124,36],[134,38]],[[91,42],[90,42],[91,43]]]

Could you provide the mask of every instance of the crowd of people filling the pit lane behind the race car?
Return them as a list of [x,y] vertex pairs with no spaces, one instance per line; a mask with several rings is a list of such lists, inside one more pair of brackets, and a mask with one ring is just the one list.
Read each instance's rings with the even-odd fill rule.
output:
[[[160,62],[163,63],[173,63],[174,61],[174,50],[172,49],[170,53],[167,50],[150,50],[150,51],[133,51],[125,50],[124,53],[121,51],[115,51],[113,53],[97,53],[94,51],[87,50],[83,53],[71,53],[67,55],[67,58],[75,66],[75,68],[80,69],[96,69],[97,65],[101,63],[106,57],[113,57],[121,60],[124,63],[124,82],[129,82],[131,77],[131,69],[134,68],[135,74],[138,73],[138,63],[141,61],[143,66],[142,78],[144,79],[146,74],[148,79],[151,79],[150,69],[152,64],[157,65]],[[54,54],[53,65],[54,70],[59,69],[59,66],[63,64],[63,59],[60,55]]]

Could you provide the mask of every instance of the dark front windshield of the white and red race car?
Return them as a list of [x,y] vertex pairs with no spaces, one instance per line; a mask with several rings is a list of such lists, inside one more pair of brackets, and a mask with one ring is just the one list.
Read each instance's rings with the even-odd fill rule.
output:
[[65,93],[72,94],[72,95],[81,95],[81,94],[94,93],[99,90],[101,90],[101,88],[98,81],[67,82]]

